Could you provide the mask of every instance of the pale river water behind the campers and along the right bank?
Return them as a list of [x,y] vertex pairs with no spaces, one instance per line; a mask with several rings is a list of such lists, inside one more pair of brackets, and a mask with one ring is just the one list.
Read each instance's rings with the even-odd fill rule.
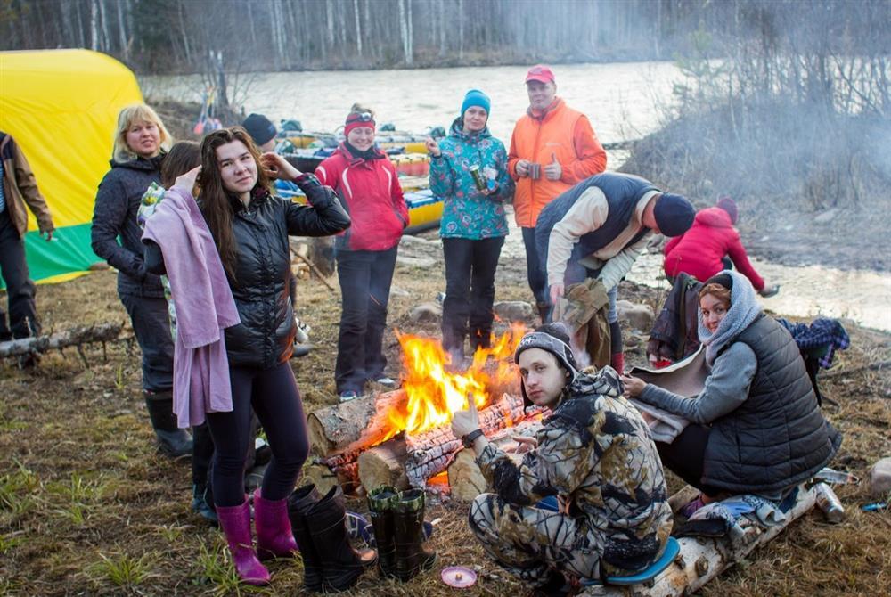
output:
[[[526,69],[520,66],[259,73],[232,79],[230,99],[243,103],[247,112],[266,114],[273,120],[298,119],[304,129],[320,131],[340,127],[349,107],[360,102],[375,110],[379,123],[391,122],[399,130],[423,133],[429,127],[448,127],[464,93],[479,88],[492,99],[492,134],[508,144],[514,122],[528,104],[525,74]],[[671,106],[672,86],[682,80],[670,62],[559,65],[554,74],[558,94],[591,119],[602,143],[634,140],[657,130],[661,114]],[[146,77],[140,84],[143,94],[151,98],[200,101],[203,92],[198,77]],[[624,151],[608,154],[609,169],[625,159]],[[521,245],[519,231],[513,230],[505,257],[521,258]],[[781,284],[780,294],[760,299],[764,307],[778,314],[848,317],[891,331],[889,274],[753,263],[766,279]],[[664,286],[660,256],[642,256],[628,278]]]

